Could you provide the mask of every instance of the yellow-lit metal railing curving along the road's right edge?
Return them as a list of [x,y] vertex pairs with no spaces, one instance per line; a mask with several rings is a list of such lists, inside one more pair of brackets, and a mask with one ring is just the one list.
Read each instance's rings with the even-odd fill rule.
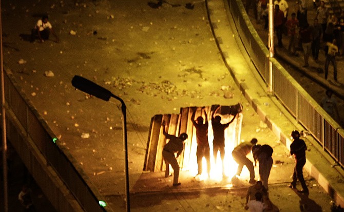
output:
[[[273,93],[296,121],[307,129],[322,149],[344,167],[344,130],[275,60],[257,36],[241,0],[227,0],[242,43],[266,85],[269,84],[269,61],[273,64]],[[260,56],[259,56],[260,55]],[[324,153],[326,153],[324,152]]]

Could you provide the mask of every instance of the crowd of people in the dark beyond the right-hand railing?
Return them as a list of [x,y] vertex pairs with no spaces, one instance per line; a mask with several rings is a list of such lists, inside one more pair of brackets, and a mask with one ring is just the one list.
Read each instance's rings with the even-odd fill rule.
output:
[[[264,20],[264,29],[269,26],[269,1],[267,0],[246,0],[245,10],[249,12],[251,5],[257,23]],[[277,47],[283,47],[282,36],[289,37],[289,44],[286,46],[291,55],[298,55],[297,50],[303,52],[304,64],[309,66],[309,57],[312,56],[315,62],[318,61],[319,50],[323,49],[326,56],[324,64],[324,78],[328,78],[329,65],[333,66],[333,79],[337,81],[337,65],[335,57],[344,53],[344,11],[339,17],[329,13],[323,1],[320,5],[314,3],[316,15],[309,17],[306,0],[298,1],[298,10],[289,16],[289,5],[285,0],[274,1],[274,28],[277,36]],[[312,25],[308,20],[313,20]]]

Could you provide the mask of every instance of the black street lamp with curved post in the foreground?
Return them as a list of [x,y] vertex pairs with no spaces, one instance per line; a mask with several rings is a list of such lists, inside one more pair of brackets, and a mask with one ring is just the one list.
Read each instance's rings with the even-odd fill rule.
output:
[[75,75],[72,79],[72,85],[85,93],[93,95],[104,101],[109,101],[111,97],[117,99],[122,104],[122,125],[123,125],[123,146],[124,146],[124,161],[125,161],[125,201],[126,201],[126,211],[130,211],[130,198],[129,198],[129,168],[128,168],[128,143],[127,143],[127,118],[126,118],[126,106],[124,101],[113,95],[109,90],[97,85],[82,76]]

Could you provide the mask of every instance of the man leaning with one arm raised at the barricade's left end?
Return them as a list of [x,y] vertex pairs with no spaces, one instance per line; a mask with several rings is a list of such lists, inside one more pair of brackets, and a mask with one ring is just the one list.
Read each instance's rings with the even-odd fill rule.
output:
[[[187,134],[181,133],[179,137],[176,137],[166,132],[165,122],[162,123],[162,126],[163,134],[166,136],[166,139],[169,139],[169,142],[164,146],[164,149],[162,151],[162,156],[164,157],[164,161],[166,164],[165,177],[169,176],[169,164],[171,164],[174,170],[173,185],[178,186],[181,183],[178,182],[179,164],[176,158],[179,157],[180,153],[184,149],[184,141],[187,139]],[[175,156],[175,153],[177,153],[177,157]]]

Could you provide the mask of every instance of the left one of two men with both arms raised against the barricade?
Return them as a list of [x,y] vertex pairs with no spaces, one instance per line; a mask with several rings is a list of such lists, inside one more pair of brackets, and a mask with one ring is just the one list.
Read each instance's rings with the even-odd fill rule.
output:
[[[195,110],[191,116],[191,121],[193,122],[195,128],[196,128],[196,137],[197,137],[197,150],[196,150],[196,156],[197,156],[197,165],[198,165],[198,175],[202,175],[202,158],[204,157],[206,160],[206,166],[207,166],[207,174],[208,177],[210,177],[210,148],[209,148],[209,142],[208,142],[208,118],[207,114],[204,110],[204,107],[201,109],[201,115],[197,118],[195,121]],[[205,116],[205,122],[203,123],[203,112]]]

